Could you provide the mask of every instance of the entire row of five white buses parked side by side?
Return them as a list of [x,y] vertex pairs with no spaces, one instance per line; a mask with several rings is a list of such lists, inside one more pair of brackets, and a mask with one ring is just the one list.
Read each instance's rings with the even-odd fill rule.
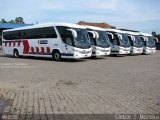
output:
[[152,54],[156,41],[150,34],[48,23],[4,30],[3,53],[20,56],[86,58],[104,55]]

